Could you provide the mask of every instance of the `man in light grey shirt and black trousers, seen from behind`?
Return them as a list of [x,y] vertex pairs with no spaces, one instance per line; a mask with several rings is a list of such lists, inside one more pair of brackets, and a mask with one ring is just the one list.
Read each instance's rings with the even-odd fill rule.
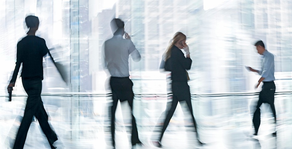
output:
[[[103,68],[111,75],[110,86],[112,89],[112,144],[115,147],[115,113],[118,101],[128,101],[133,111],[133,82],[129,79],[129,55],[134,62],[139,62],[141,56],[131,41],[130,36],[124,31],[124,22],[115,18],[111,22],[111,27],[117,28],[114,36],[103,44],[104,63]],[[115,29],[114,29],[115,30]],[[123,35],[125,34],[125,38]],[[132,145],[140,143],[136,120],[132,112]]]

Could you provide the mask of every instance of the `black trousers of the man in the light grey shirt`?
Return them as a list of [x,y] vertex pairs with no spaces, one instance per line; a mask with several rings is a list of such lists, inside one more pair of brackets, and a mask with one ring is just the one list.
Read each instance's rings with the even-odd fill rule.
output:
[[132,111],[132,145],[135,145],[136,143],[141,143],[138,136],[138,130],[136,126],[136,120],[133,115],[133,99],[134,99],[134,93],[133,93],[133,82],[129,77],[111,77],[110,79],[110,85],[112,89],[112,144],[115,146],[115,113],[116,108],[118,105],[118,101],[128,101],[131,111]]

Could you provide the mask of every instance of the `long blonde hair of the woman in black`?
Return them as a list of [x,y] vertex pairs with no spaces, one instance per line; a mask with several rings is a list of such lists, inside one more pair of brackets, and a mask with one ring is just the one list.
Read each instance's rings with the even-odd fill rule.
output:
[[169,41],[169,44],[164,52],[164,61],[166,62],[166,60],[168,60],[168,58],[170,58],[171,55],[171,48],[179,41],[186,39],[187,37],[185,36],[185,34],[181,33],[181,32],[176,32],[173,35],[172,40]]

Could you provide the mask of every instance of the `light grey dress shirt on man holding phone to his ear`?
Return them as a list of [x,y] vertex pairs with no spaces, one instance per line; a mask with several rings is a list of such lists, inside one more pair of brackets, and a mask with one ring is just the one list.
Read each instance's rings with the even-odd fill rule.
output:
[[103,44],[103,68],[108,69],[113,77],[128,77],[129,55],[134,62],[141,59],[139,51],[133,42],[124,39],[122,35],[114,35]]

